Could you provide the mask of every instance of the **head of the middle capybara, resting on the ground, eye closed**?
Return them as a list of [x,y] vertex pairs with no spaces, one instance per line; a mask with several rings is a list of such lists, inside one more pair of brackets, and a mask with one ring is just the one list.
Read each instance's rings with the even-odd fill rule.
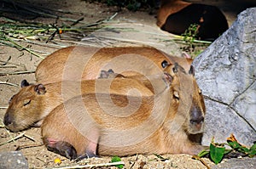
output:
[[43,84],[30,85],[26,80],[21,82],[21,89],[9,100],[9,108],[4,115],[4,125],[13,132],[24,130],[40,121],[43,95],[46,89]]

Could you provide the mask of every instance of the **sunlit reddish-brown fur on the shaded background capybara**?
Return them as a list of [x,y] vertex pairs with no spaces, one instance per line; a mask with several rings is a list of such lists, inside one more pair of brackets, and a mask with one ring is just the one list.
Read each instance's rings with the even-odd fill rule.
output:
[[156,25],[162,27],[166,23],[166,19],[170,14],[175,14],[181,9],[189,6],[188,2],[181,0],[161,0],[160,9],[157,13]]

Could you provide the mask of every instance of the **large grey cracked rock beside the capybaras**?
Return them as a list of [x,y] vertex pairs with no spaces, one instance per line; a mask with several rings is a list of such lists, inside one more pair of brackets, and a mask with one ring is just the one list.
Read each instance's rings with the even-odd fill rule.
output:
[[228,31],[195,59],[195,77],[206,96],[206,132],[226,142],[230,133],[251,145],[256,141],[256,8],[248,8]]

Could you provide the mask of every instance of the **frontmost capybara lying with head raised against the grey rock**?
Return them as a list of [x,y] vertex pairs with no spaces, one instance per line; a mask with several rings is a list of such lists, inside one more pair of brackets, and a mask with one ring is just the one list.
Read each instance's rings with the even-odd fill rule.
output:
[[199,143],[206,108],[194,70],[186,73],[170,65],[165,71],[159,77],[165,87],[154,96],[113,94],[109,99],[104,93],[88,93],[59,105],[43,122],[44,144],[69,159],[197,154],[203,149]]

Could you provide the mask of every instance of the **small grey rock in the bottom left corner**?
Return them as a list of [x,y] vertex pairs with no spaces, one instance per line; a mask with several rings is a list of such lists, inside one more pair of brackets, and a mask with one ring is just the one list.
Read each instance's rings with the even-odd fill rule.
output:
[[20,151],[0,152],[0,168],[3,169],[27,169],[28,163]]

